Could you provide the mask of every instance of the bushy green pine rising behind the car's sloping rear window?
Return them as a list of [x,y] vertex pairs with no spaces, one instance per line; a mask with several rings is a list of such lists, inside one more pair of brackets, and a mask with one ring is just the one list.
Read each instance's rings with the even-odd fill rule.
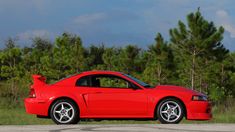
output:
[[84,70],[84,48],[79,36],[63,33],[53,48],[53,63],[57,78]]

